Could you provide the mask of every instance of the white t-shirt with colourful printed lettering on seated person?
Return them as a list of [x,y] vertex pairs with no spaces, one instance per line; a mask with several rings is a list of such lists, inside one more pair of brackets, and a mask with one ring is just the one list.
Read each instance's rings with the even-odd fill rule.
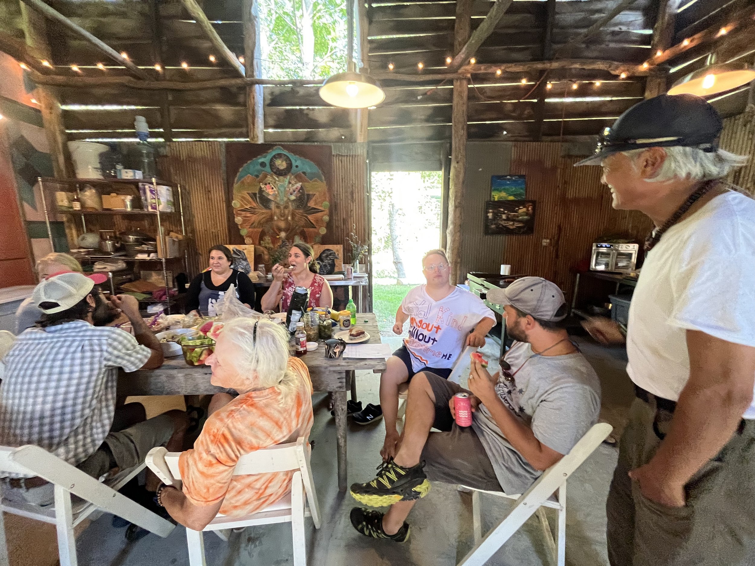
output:
[[404,340],[411,354],[411,368],[451,368],[464,349],[467,334],[482,318],[495,315],[476,294],[454,288],[448,297],[433,300],[427,285],[406,294],[401,309],[409,315],[409,337]]

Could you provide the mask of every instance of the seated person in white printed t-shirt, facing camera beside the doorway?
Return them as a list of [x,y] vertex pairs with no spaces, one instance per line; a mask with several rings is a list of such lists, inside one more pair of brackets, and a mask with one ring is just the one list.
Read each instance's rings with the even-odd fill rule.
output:
[[386,431],[383,460],[396,455],[399,386],[420,371],[447,379],[464,346],[485,346],[485,336],[496,323],[493,311],[476,294],[449,283],[445,251],[428,251],[422,267],[427,284],[406,294],[393,326],[393,332],[402,334],[408,320],[409,336],[393,352],[381,375],[380,402]]

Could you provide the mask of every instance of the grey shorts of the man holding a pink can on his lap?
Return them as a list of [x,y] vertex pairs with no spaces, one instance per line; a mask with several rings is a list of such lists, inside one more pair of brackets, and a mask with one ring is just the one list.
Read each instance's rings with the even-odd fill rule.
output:
[[486,491],[504,491],[490,458],[471,426],[458,426],[451,417],[448,401],[467,392],[458,383],[424,372],[435,396],[435,421],[422,451],[427,478],[447,484],[464,484]]

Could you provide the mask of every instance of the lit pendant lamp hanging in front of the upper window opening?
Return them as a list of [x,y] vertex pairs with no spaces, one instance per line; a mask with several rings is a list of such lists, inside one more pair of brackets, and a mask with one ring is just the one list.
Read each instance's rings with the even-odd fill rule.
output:
[[328,77],[320,87],[320,98],[333,106],[341,108],[368,108],[377,106],[385,100],[385,92],[370,75],[356,72],[353,60],[354,44],[354,5],[347,0],[347,26],[349,45],[347,48],[347,72],[339,72]]

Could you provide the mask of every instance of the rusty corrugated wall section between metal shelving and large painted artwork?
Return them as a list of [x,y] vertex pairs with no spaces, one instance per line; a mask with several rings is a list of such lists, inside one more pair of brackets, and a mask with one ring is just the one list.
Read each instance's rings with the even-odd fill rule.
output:
[[216,244],[230,242],[225,187],[225,149],[220,142],[168,143],[161,165],[166,176],[181,183],[186,232],[191,236],[189,272],[207,265],[206,253]]

